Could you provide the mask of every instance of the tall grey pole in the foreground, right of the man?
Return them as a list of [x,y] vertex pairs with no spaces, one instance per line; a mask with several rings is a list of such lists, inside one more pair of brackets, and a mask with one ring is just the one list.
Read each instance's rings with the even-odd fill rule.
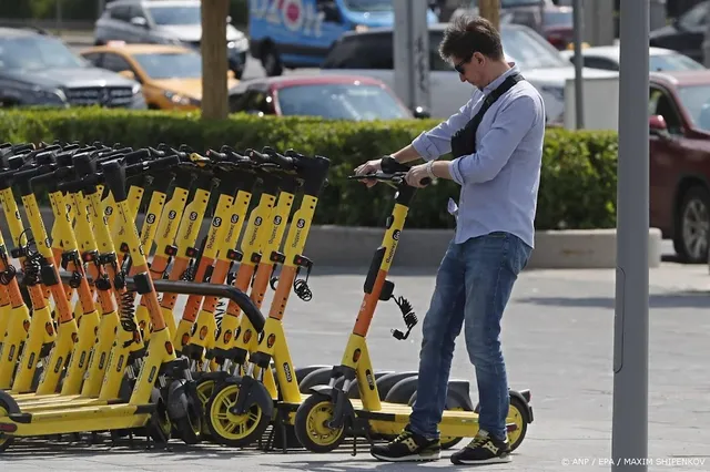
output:
[[647,471],[649,3],[620,3],[611,470]]

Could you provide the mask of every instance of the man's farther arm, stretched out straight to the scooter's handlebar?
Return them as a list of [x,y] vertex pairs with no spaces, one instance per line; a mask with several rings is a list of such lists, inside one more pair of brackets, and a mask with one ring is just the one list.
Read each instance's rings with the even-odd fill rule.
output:
[[392,156],[397,162],[405,163],[419,157],[433,161],[452,151],[452,136],[470,121],[471,98],[457,113],[438,126],[419,134],[412,144],[403,147]]

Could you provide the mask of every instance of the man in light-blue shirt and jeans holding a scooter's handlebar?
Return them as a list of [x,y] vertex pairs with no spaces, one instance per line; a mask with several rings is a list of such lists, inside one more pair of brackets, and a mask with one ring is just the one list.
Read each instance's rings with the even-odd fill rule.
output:
[[[392,156],[400,163],[427,161],[407,173],[409,185],[420,186],[428,176],[462,186],[456,234],[442,260],[423,322],[417,400],[409,424],[397,439],[371,452],[385,461],[439,459],[438,423],[455,339],[465,322],[466,348],[478,384],[480,430],[452,461],[507,462],[509,397],[500,320],[534,246],[545,109],[515,63],[505,61],[500,37],[489,21],[455,20],[444,33],[439,53],[454,64],[462,81],[477,90],[458,113]],[[481,106],[483,119],[477,116]],[[453,161],[436,161],[449,152]],[[379,170],[379,161],[369,161],[356,173]]]

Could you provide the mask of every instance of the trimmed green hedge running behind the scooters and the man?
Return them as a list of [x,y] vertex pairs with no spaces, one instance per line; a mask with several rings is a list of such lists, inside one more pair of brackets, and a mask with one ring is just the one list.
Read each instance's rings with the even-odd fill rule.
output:
[[[345,177],[368,158],[392,153],[408,144],[434,120],[394,122],[338,122],[307,117],[232,115],[210,122],[196,113],[73,109],[70,111],[1,111],[0,141],[121,143],[130,146],[174,147],[184,143],[195,150],[229,144],[237,150],[271,145],[331,158],[329,185],[318,204],[317,224],[381,225],[392,207],[390,187],[367,189]],[[443,158],[449,158],[444,156]],[[602,228],[616,224],[617,135],[548,129],[542,157],[538,229]],[[449,197],[459,187],[438,181],[420,191],[407,219],[408,227],[449,228]]]

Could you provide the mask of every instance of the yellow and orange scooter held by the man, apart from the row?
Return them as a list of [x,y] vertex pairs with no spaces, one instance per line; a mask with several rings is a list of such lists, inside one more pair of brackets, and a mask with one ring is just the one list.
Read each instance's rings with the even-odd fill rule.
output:
[[[408,404],[381,400],[366,343],[367,331],[377,302],[393,297],[394,284],[387,280],[387,273],[415,194],[415,188],[404,181],[408,168],[387,156],[382,160],[381,173],[352,177],[375,178],[390,183],[397,193],[394,209],[387,218],[383,244],[375,252],[365,280],[365,296],[341,365],[332,369],[331,382],[311,388],[311,396],[296,409],[294,420],[296,438],[312,452],[333,451],[347,435],[362,434],[371,439],[371,442],[374,434],[396,435],[408,422],[410,404],[416,399],[416,378],[409,377],[400,381],[412,393]],[[410,330],[416,322],[416,317],[410,316],[409,320],[413,321],[408,324]],[[407,335],[408,331],[398,336],[395,332],[395,337],[402,339]],[[336,386],[337,379],[341,378],[342,383]],[[397,386],[393,387],[394,389],[397,389]],[[355,397],[352,394],[353,390],[357,390],[357,399],[353,398]],[[468,411],[445,409],[439,423],[442,435],[448,441],[456,442],[462,438],[475,437],[478,430],[478,415],[475,412],[477,408],[473,408],[470,398],[460,398],[460,392],[456,394],[459,398],[453,398],[452,393],[456,392],[449,391],[447,407],[450,408],[452,401],[457,401]],[[507,430],[511,450],[520,445],[527,432],[527,425],[532,421],[529,400],[529,390],[520,392],[510,390]]]

